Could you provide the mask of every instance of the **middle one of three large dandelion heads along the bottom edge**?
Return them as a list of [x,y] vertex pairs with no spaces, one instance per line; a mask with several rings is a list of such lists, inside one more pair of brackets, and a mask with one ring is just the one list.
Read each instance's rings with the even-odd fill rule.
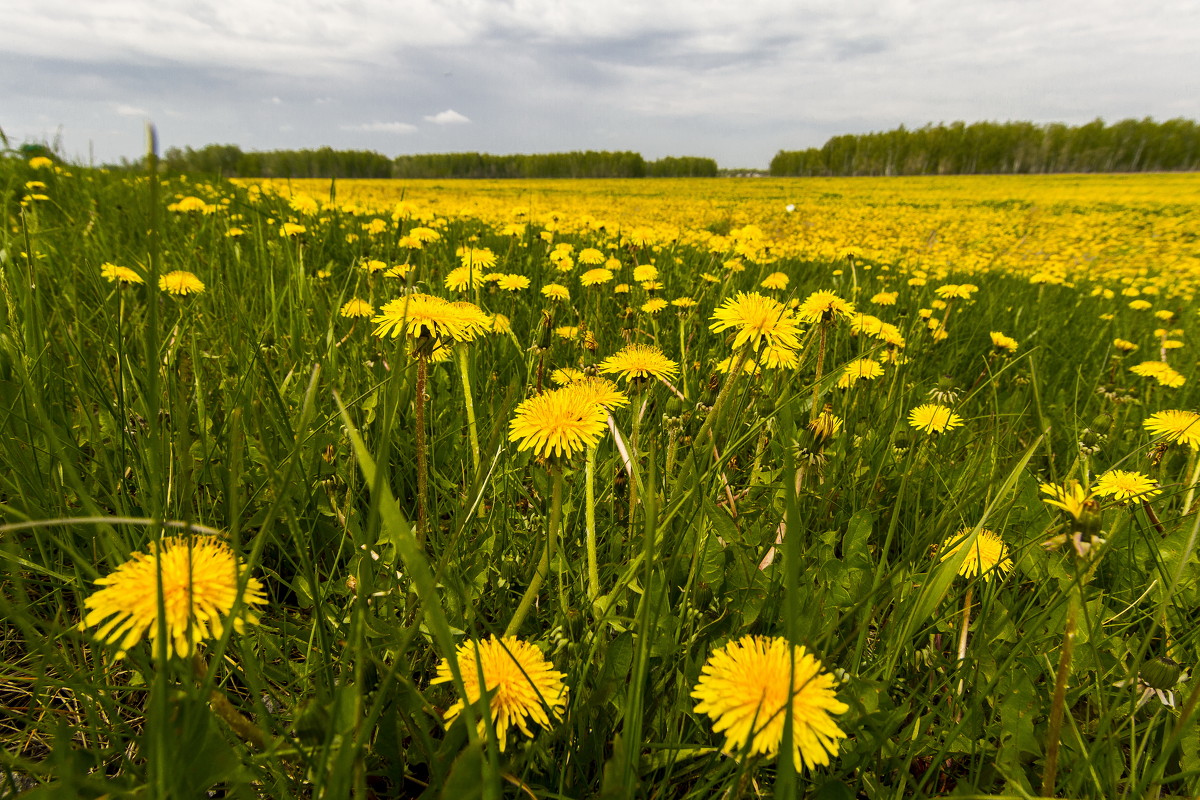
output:
[[[528,642],[515,636],[466,642],[455,651],[455,661],[467,697],[458,698],[446,710],[446,722],[462,714],[467,703],[475,705],[485,693],[491,694],[488,709],[502,752],[509,728],[516,727],[524,735],[532,736],[530,722],[548,728],[551,715],[557,720],[563,718],[566,709],[566,685],[563,682],[565,675],[556,670],[541,650]],[[482,685],[480,673],[484,675]],[[448,684],[451,680],[450,661],[443,658],[438,664],[437,678],[430,684]],[[484,720],[479,721],[479,734],[487,735]]]

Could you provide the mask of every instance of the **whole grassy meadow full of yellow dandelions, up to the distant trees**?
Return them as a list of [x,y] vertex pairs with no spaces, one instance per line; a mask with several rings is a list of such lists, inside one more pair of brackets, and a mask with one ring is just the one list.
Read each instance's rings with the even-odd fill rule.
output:
[[4,794],[1200,793],[1200,176],[0,203]]

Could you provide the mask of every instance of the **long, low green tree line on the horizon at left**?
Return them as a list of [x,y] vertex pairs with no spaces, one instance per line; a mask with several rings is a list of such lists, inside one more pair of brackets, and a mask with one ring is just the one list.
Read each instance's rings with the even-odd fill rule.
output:
[[[169,148],[162,164],[173,173],[224,178],[715,178],[712,158],[646,161],[636,152],[575,151],[493,156],[480,152],[389,158],[370,150],[269,150],[232,144]],[[134,167],[137,164],[130,164]]]

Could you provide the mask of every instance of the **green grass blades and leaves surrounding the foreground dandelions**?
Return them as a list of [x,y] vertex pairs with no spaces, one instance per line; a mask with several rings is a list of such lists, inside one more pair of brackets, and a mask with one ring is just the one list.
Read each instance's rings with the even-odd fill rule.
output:
[[[1150,312],[1092,296],[1084,279],[1038,287],[952,275],[944,282],[980,289],[955,301],[949,338],[934,343],[917,309],[929,307],[937,276],[911,287],[898,267],[811,261],[728,272],[725,257],[666,245],[653,254],[662,295],[686,294],[698,307],[626,315],[611,284],[563,279],[533,225],[515,240],[450,218],[442,241],[416,255],[412,285],[449,296],[442,276],[456,265],[455,247],[478,236],[499,269],[533,287],[470,297],[512,327],[470,345],[479,471],[458,368],[451,360],[430,369],[432,524],[421,548],[412,531],[415,369],[397,341],[338,315],[352,296],[378,307],[400,294],[402,282],[356,266],[368,255],[402,260],[397,229],[371,237],[361,223],[372,217],[326,210],[300,219],[302,236],[282,237],[278,225],[294,213],[277,198],[65,173],[0,160],[0,794],[713,798],[772,794],[778,782],[780,794],[818,798],[1031,796],[1045,770],[1073,596],[1057,794],[1200,792],[1192,681],[1175,709],[1157,698],[1138,708],[1136,690],[1115,686],[1162,656],[1190,672],[1200,645],[1198,518],[1182,507],[1193,463],[1176,446],[1152,464],[1141,425],[1157,410],[1195,408],[1194,357],[1171,356],[1188,378],[1180,389],[1152,389],[1128,372],[1157,351],[1152,331],[1163,323]],[[47,182],[49,200],[22,205],[29,180]],[[212,215],[166,210],[186,194],[229,203]],[[230,215],[241,215],[245,235],[226,235]],[[605,243],[564,240],[576,251]],[[613,252],[626,265],[650,255]],[[106,261],[134,267],[146,285],[106,282]],[[151,288],[176,269],[206,290],[172,297]],[[722,282],[703,283],[703,271]],[[845,428],[820,459],[809,459],[805,428],[810,338],[799,369],[733,385],[715,461],[695,440],[697,403],[713,404],[724,380],[713,363],[732,353],[708,319],[774,271],[792,277],[790,296],[830,289],[869,312],[875,291],[899,290],[896,306],[874,311],[904,331],[907,362],[838,389],[840,365],[878,348],[847,324],[832,326],[816,393]],[[582,323],[596,353],[544,333],[548,305],[536,289],[552,281],[568,283],[572,300],[551,325]],[[1114,308],[1115,319],[1100,319]],[[1195,315],[1188,303],[1174,309],[1180,321],[1166,326],[1184,330],[1189,347],[1178,353],[1189,354]],[[1015,355],[992,355],[992,330],[1020,342]],[[1114,362],[1115,336],[1141,350]],[[551,479],[506,440],[539,363],[545,375],[593,365],[626,338],[683,363],[686,399],[644,389],[634,519],[630,479],[612,437],[601,440],[595,606],[583,459],[568,465],[563,540],[520,633],[566,674],[570,698],[560,723],[512,735],[502,753],[462,721],[448,728],[456,690],[430,681],[464,637],[505,628],[545,546]],[[907,414],[940,383],[956,390],[949,404],[965,425],[917,433]],[[1098,387],[1129,389],[1133,399],[1112,402]],[[613,415],[626,440],[635,405]],[[1084,429],[1098,425],[1109,426],[1099,451],[1081,455]],[[1138,504],[1105,503],[1108,542],[1076,569],[1069,548],[1043,547],[1069,528],[1038,486],[1110,468],[1163,483],[1157,522]],[[760,570],[781,522],[784,543]],[[78,630],[92,582],[192,524],[224,531],[263,581],[260,624],[209,643],[206,679],[145,643],[114,661]],[[1003,536],[1010,573],[966,579],[938,561],[936,545],[976,528]],[[719,752],[722,739],[694,712],[690,692],[706,658],[745,633],[786,636],[838,670],[848,738],[830,765],[797,775],[787,759]],[[264,750],[214,714],[214,686],[262,729]]]

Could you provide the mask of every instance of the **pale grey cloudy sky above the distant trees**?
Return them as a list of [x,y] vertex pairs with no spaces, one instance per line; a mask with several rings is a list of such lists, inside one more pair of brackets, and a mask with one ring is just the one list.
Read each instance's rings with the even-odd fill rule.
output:
[[1195,0],[0,0],[0,130],[766,168],[928,122],[1200,119]]

